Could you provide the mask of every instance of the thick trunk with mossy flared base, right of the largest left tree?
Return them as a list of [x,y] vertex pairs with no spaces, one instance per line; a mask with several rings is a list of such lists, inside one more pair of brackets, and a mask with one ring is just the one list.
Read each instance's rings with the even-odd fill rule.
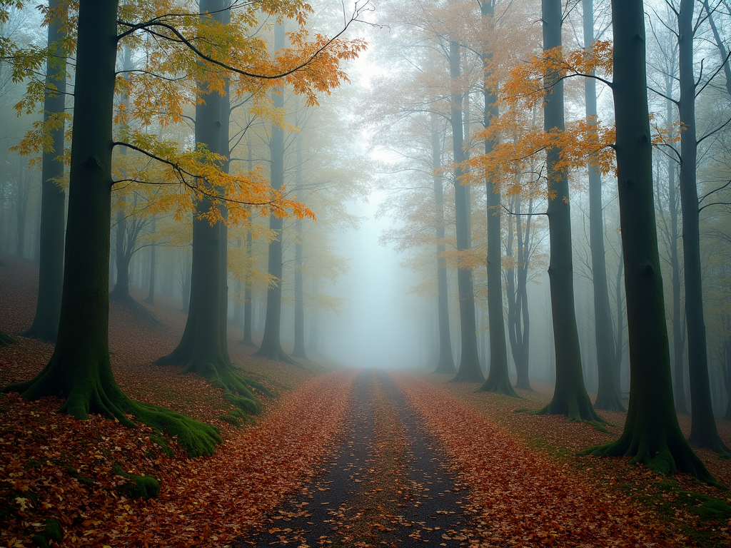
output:
[[[209,24],[224,24],[228,11],[224,0],[202,0],[201,17]],[[208,15],[211,14],[211,15]],[[205,90],[208,82],[200,80],[198,88]],[[216,91],[201,93],[202,101],[196,103],[195,141],[197,145],[208,148],[228,157],[228,107],[227,95]],[[227,161],[221,168],[227,170]],[[201,181],[201,184],[208,184]],[[216,189],[211,187],[211,193]],[[202,216],[212,206],[208,198],[196,204],[193,218],[193,259],[191,273],[191,293],[188,321],[178,346],[167,356],[159,358],[159,365],[179,364],[181,373],[193,372],[221,387],[227,398],[245,411],[258,413],[261,404],[251,392],[255,387],[266,392],[263,387],[238,375],[228,354],[227,341],[227,229],[224,222],[211,224]],[[224,205],[215,207],[226,218]]]

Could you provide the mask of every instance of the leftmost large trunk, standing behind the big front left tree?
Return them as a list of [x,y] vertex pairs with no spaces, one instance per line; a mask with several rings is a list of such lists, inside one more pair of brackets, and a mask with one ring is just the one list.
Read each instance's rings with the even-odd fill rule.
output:
[[[65,4],[50,0],[50,12],[56,17],[48,25],[48,43],[55,47],[46,69],[46,91],[43,120],[48,123],[64,114],[66,104],[66,51],[61,45],[65,37]],[[53,89],[55,88],[55,92]],[[64,162],[57,161],[64,153],[66,125],[61,121],[50,132],[51,145],[43,151],[41,170],[40,265],[38,270],[38,300],[31,327],[25,337],[56,342],[58,317],[61,314],[61,290],[64,286],[64,223],[66,194],[56,181],[64,175]]]

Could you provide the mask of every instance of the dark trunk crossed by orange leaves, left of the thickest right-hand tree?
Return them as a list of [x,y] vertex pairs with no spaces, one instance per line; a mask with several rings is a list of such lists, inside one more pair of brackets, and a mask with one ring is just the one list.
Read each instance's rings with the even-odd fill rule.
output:
[[[561,47],[561,0],[542,0],[543,50]],[[564,131],[564,81],[556,70],[545,74],[549,92],[543,106],[544,130]],[[546,178],[548,180],[548,228],[550,236],[551,315],[553,340],[556,345],[556,388],[553,400],[538,414],[566,415],[569,421],[604,422],[591,406],[584,387],[581,351],[574,307],[574,267],[571,244],[571,210],[569,208],[569,178],[556,164],[561,151],[548,149]]]

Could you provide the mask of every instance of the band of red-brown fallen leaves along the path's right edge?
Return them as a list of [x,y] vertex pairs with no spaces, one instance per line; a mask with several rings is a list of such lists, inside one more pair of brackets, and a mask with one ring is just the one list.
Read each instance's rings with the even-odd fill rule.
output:
[[681,545],[642,509],[607,498],[444,389],[413,376],[394,378],[469,487],[465,506],[487,546]]

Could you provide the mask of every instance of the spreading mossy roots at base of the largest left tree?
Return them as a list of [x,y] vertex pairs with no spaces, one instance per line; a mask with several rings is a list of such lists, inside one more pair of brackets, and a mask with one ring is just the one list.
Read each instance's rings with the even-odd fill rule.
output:
[[101,369],[96,375],[74,375],[70,370],[62,370],[59,360],[51,358],[35,378],[10,384],[2,392],[20,392],[26,400],[66,397],[58,412],[81,420],[88,419],[90,414],[100,414],[106,419],[117,419],[126,427],[135,427],[135,422],[128,416],[132,415],[139,422],[176,437],[192,457],[213,454],[216,444],[221,443],[216,427],[170,409],[131,400],[115,383],[111,369],[108,372]]

